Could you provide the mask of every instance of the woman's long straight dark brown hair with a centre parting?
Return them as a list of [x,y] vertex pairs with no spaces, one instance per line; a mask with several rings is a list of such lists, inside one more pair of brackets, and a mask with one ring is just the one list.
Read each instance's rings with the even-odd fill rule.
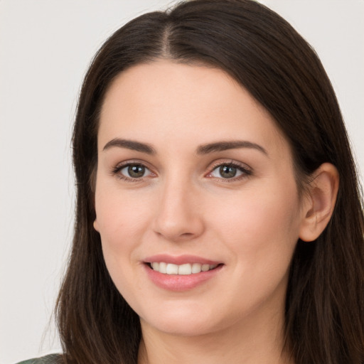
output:
[[250,0],[188,1],[139,16],[95,56],[75,120],[75,235],[56,307],[67,362],[137,363],[139,318],[114,287],[92,226],[97,127],[114,77],[159,58],[211,65],[240,82],[289,141],[299,188],[324,162],[336,166],[333,216],[316,241],[297,242],[291,262],[286,349],[296,364],[363,363],[363,205],[338,102],[310,45],[287,21]]

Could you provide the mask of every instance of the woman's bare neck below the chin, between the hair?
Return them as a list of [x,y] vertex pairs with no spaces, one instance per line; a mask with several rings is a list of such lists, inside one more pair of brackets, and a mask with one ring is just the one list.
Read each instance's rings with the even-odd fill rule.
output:
[[283,313],[265,319],[242,320],[198,336],[164,333],[141,320],[138,364],[293,364],[283,350]]

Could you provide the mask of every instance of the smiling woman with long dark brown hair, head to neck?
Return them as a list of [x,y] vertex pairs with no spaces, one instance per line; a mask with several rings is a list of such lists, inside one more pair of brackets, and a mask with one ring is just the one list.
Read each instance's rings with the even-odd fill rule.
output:
[[[363,363],[363,208],[309,45],[247,0],[129,22],[82,86],[50,363]],[[35,362],[37,363],[37,361]]]

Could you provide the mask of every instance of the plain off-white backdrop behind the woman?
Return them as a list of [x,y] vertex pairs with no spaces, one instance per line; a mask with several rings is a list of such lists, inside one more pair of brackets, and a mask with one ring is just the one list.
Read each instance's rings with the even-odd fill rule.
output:
[[[364,1],[265,0],[314,46],[364,171]],[[0,0],[0,363],[60,350],[51,314],[73,232],[70,133],[103,41],[166,0]]]

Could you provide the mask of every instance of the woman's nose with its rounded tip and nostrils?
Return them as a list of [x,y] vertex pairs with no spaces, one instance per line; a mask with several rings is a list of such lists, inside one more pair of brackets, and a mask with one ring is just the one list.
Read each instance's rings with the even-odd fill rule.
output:
[[205,229],[200,198],[191,184],[166,181],[155,209],[154,232],[173,242],[199,237]]

